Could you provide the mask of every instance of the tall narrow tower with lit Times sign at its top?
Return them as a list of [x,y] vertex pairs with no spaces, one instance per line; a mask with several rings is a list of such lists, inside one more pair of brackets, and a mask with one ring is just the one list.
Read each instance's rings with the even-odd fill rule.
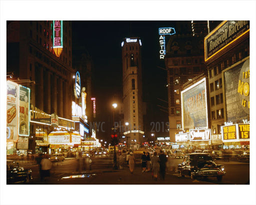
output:
[[[128,143],[141,143],[143,137],[143,102],[141,77],[141,41],[124,38],[122,43],[123,122]],[[128,125],[127,123],[128,122]],[[125,125],[126,123],[126,125]]]

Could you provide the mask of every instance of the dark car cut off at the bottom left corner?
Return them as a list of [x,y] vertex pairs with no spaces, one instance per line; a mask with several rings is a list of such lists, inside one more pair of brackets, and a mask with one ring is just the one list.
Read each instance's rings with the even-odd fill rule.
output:
[[10,183],[18,183],[25,182],[28,183],[31,177],[31,169],[24,169],[20,167],[18,162],[14,160],[6,160],[6,182]]

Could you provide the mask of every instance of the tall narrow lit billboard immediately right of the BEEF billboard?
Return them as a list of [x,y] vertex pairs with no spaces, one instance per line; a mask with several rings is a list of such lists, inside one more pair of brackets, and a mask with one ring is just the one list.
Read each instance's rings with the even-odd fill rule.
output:
[[19,136],[29,136],[30,122],[30,89],[19,85]]

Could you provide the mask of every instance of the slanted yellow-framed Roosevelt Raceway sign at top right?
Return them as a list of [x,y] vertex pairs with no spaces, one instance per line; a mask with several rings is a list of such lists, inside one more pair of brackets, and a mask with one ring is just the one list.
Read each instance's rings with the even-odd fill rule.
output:
[[222,21],[204,38],[204,60],[207,61],[248,31],[248,20]]

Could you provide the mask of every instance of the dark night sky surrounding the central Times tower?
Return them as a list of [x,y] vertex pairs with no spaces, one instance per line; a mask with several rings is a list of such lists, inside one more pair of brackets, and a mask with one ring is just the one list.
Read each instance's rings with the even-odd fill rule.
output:
[[157,106],[168,106],[157,99],[167,101],[166,71],[157,67],[164,67],[158,55],[158,28],[174,25],[175,21],[72,21],[72,46],[84,47],[94,64],[92,94],[96,97],[97,121],[111,120],[111,103],[121,100],[124,37],[140,37],[142,42],[142,89],[148,122],[168,121],[168,114]]

